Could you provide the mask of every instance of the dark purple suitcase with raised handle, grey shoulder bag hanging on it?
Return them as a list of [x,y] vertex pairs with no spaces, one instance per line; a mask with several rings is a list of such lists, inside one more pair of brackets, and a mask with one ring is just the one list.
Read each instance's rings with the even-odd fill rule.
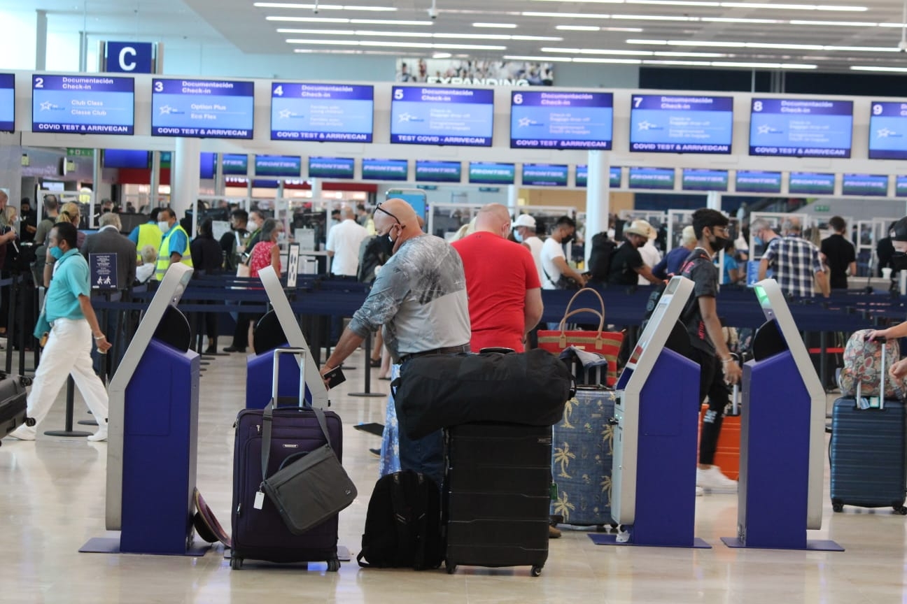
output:
[[[275,356],[296,349],[275,350]],[[305,363],[300,363],[305,367]],[[279,363],[275,359],[274,368]],[[274,384],[278,383],[277,375]],[[299,383],[305,385],[300,376]],[[268,475],[277,472],[290,456],[310,452],[325,444],[315,413],[301,407],[300,398],[278,398],[274,410],[271,453]],[[260,510],[254,503],[261,476],[262,409],[243,409],[236,420],[236,440],[233,449],[233,535],[230,568],[239,570],[245,559],[271,562],[327,561],[327,570],[340,568],[337,560],[337,516],[301,535],[289,532],[277,508],[264,497]],[[343,460],[343,425],[333,411],[325,411],[327,432],[337,458]]]

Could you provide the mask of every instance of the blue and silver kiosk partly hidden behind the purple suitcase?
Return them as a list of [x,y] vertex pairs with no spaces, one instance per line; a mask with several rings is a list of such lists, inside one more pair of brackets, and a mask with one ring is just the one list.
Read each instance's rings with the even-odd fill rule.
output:
[[[278,318],[280,328],[287,338],[285,343],[290,347],[306,351],[304,356],[306,377],[306,402],[313,407],[327,407],[327,388],[321,379],[321,374],[315,364],[315,357],[308,349],[306,337],[299,328],[296,315],[287,300],[287,294],[280,284],[278,273],[270,266],[258,272],[261,283],[268,293],[271,308]],[[278,396],[299,396],[299,360],[295,355],[280,355],[280,371],[278,372]],[[246,407],[264,408],[271,399],[271,388],[268,384],[274,373],[274,354],[268,350],[262,354],[249,355],[246,366]]]

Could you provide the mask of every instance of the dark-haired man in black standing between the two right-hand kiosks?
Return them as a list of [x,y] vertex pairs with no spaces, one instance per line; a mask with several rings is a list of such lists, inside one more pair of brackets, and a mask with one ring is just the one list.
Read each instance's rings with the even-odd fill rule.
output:
[[693,214],[697,246],[680,267],[680,274],[694,283],[693,294],[681,319],[692,348],[689,358],[699,363],[701,368],[699,401],[708,395],[708,411],[699,436],[696,484],[707,491],[736,492],[736,481],[727,478],[721,473],[721,468],[714,465],[718,435],[727,405],[727,384],[736,384],[742,373],[730,350],[727,350],[715,302],[718,269],[712,258],[731,243],[727,223],[727,216],[717,210],[702,208]]

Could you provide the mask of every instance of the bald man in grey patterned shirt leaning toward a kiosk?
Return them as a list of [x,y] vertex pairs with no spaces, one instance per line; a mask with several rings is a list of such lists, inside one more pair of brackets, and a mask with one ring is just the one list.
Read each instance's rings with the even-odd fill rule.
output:
[[[443,239],[425,235],[413,207],[402,199],[388,199],[375,208],[375,233],[391,259],[325,361],[322,375],[343,363],[379,327],[398,363],[421,354],[469,351],[469,302],[460,254]],[[443,463],[440,430],[417,441],[401,431],[402,469],[424,472],[441,484]]]

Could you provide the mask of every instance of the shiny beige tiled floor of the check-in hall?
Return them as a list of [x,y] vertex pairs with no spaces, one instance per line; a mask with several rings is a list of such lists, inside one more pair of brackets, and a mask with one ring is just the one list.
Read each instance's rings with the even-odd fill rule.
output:
[[[376,436],[353,429],[383,422],[385,399],[351,398],[363,388],[361,356],[349,364],[332,408],[345,422],[344,462],[359,498],[340,516],[340,542],[358,550],[377,459]],[[201,379],[198,485],[229,525],[232,422],[243,405],[245,359],[219,357]],[[374,375],[374,374],[373,374]],[[373,377],[373,389],[387,382]],[[77,418],[86,417],[77,398]],[[44,429],[63,426],[63,396]],[[585,531],[551,542],[541,577],[529,569],[362,570],[325,565],[230,571],[217,551],[202,558],[78,553],[103,536],[105,444],[39,436],[0,446],[0,602],[758,602],[863,604],[902,602],[905,522],[888,510],[833,514],[810,537],[834,539],[847,551],[730,550],[718,538],[736,532],[736,496],[697,498],[697,535],[711,550],[605,547]],[[827,469],[825,489],[828,488]],[[666,505],[670,502],[666,501]]]

